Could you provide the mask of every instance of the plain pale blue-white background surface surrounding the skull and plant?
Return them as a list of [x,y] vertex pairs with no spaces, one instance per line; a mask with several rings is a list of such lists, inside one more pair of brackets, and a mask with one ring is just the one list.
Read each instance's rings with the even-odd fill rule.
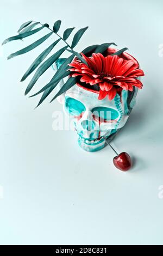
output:
[[[54,94],[35,110],[40,97],[24,97],[31,77],[19,81],[50,40],[8,61],[37,35],[1,48],[0,244],[163,243],[162,10],[161,0],[1,3],[1,42],[28,20],[53,27],[60,19],[61,32],[89,26],[77,51],[114,41],[129,48],[146,76],[128,123],[112,142],[134,157],[133,169],[123,173],[113,166],[109,147],[87,153],[73,131],[53,131],[52,114],[62,109],[58,101],[49,104]],[[52,75],[40,78],[36,92]]]

